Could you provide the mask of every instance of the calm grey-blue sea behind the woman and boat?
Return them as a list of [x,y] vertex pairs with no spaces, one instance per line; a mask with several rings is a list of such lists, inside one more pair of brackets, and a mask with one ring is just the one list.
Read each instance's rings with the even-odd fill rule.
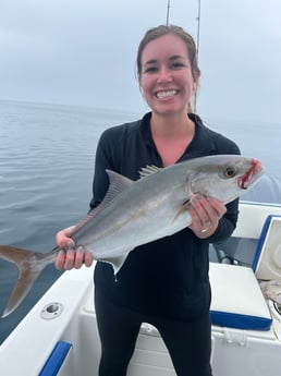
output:
[[[0,243],[48,252],[59,229],[88,210],[98,137],[136,114],[112,110],[0,101]],[[244,155],[260,158],[281,180],[281,124],[210,124]],[[0,260],[0,313],[16,268]],[[49,266],[21,306],[0,319],[0,343],[60,276]]]

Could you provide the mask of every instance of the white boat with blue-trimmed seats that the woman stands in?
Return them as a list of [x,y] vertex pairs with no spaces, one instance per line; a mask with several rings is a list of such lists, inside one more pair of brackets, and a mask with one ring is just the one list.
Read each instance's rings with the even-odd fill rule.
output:
[[[225,264],[223,259],[210,263],[213,376],[277,375],[281,359],[281,205],[241,202],[231,239],[254,241],[256,250],[252,265]],[[0,345],[1,375],[98,375],[94,268],[65,271],[44,294]],[[140,328],[127,376],[175,376],[162,339],[149,324]]]

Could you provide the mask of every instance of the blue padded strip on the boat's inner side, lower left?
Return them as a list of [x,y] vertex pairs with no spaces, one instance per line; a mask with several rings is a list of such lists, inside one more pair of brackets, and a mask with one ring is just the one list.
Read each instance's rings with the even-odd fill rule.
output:
[[65,341],[57,342],[38,376],[56,376],[65,361],[72,344]]

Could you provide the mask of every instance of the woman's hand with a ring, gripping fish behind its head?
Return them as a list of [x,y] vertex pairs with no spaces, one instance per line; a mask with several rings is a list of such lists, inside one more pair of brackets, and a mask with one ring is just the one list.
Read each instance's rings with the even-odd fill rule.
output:
[[200,239],[211,236],[218,228],[219,220],[227,213],[227,207],[216,198],[207,198],[200,194],[191,197],[190,229]]

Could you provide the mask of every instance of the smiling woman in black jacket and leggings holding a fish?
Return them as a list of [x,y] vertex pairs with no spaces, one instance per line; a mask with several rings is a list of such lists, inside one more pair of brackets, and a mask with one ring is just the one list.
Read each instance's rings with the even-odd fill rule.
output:
[[[167,167],[200,156],[240,154],[233,142],[207,129],[192,113],[200,71],[194,40],[181,27],[161,25],[146,33],[138,48],[137,74],[151,112],[101,135],[91,208],[107,192],[106,169],[137,180],[147,165]],[[211,375],[208,245],[234,230],[237,201],[225,207],[197,194],[192,197],[191,214],[190,228],[131,252],[117,281],[111,265],[97,263],[100,376],[126,375],[143,322],[158,328],[178,375]],[[58,233],[61,247],[71,244],[71,231]],[[91,264],[87,252],[66,252],[57,258],[58,268],[78,268],[83,263]]]

